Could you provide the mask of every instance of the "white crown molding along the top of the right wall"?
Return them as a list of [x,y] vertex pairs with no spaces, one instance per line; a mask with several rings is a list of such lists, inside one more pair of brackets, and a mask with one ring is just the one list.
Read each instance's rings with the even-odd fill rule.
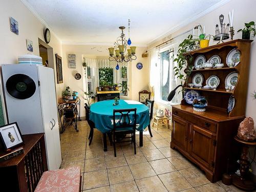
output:
[[159,36],[157,36],[156,38],[154,38],[152,41],[150,41],[148,43],[148,46],[154,44],[155,42],[158,42],[159,40],[161,40],[162,38],[168,36],[171,33],[174,33],[175,31],[178,31],[179,29],[181,29],[182,27],[187,26],[188,24],[195,22],[195,20],[199,19],[200,17],[203,17],[204,15],[210,13],[211,11],[214,11],[215,9],[225,5],[226,3],[230,2],[231,0],[223,0],[218,2],[215,5],[212,5],[211,7],[209,7],[208,9],[202,11],[201,13],[195,15],[194,17],[191,18],[187,18],[185,20],[183,20],[183,22],[181,22],[180,24],[170,28],[167,32],[164,32],[162,34],[160,34]]

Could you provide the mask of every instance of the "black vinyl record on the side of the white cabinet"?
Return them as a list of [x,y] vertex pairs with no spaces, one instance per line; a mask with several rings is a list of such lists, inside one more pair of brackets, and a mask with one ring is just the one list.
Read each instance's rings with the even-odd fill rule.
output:
[[17,99],[27,99],[35,93],[35,82],[28,75],[15,74],[6,81],[8,93]]

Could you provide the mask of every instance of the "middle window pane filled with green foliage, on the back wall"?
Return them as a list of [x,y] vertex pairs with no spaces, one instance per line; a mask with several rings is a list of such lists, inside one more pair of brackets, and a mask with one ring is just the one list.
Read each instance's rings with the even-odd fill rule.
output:
[[112,68],[100,68],[99,69],[99,85],[105,84],[111,85],[114,82],[114,74]]

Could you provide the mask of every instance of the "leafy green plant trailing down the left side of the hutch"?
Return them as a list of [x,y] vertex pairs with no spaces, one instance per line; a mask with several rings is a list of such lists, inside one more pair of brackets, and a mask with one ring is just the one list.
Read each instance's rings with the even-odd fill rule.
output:
[[[193,70],[193,57],[190,54],[185,54],[189,51],[193,51],[199,48],[199,40],[198,38],[194,39],[193,35],[188,35],[181,44],[179,45],[178,53],[174,62],[177,62],[178,66],[174,67],[175,76],[177,76],[182,81],[187,82],[187,78],[191,74]],[[172,56],[174,58],[174,55]],[[184,70],[186,71],[186,75],[183,74]],[[181,84],[183,84],[181,81]]]

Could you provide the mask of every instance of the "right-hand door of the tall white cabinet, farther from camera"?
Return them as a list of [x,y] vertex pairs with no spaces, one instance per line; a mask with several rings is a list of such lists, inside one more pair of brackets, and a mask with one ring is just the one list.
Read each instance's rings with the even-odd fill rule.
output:
[[54,152],[55,152],[55,163],[56,169],[59,168],[61,164],[61,150],[60,150],[60,139],[59,139],[59,125],[58,125],[58,116],[57,116],[57,102],[56,102],[56,94],[55,94],[55,81],[54,81],[54,73],[53,70],[50,69],[48,73],[48,87],[50,94],[50,106],[51,106],[51,121],[54,122],[54,127],[52,129],[53,132],[53,140],[54,140]]

